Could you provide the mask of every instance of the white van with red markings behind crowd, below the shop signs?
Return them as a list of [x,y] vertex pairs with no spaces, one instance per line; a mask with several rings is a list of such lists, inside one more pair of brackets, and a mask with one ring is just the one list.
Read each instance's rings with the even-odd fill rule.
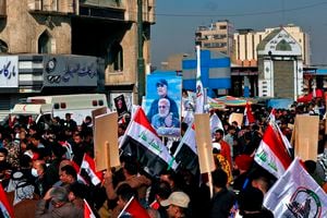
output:
[[34,96],[26,102],[16,104],[11,114],[32,116],[38,123],[46,114],[64,119],[65,113],[71,113],[71,118],[82,124],[86,116],[92,117],[92,110],[102,107],[108,107],[105,94]]

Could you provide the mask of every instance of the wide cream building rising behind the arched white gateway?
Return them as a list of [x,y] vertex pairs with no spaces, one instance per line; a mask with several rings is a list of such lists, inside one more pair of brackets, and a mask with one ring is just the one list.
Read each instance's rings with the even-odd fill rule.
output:
[[[234,60],[240,66],[257,66],[257,45],[267,37],[272,31],[280,27],[266,28],[264,32],[253,29],[238,29],[234,33]],[[290,34],[300,45],[304,65],[311,64],[310,35],[299,26],[289,24],[282,28]]]

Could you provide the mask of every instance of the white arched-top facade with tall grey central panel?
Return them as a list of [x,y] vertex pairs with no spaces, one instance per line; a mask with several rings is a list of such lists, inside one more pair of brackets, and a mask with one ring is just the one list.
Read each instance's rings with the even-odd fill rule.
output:
[[274,29],[257,46],[258,96],[291,98],[303,95],[300,44],[283,28]]

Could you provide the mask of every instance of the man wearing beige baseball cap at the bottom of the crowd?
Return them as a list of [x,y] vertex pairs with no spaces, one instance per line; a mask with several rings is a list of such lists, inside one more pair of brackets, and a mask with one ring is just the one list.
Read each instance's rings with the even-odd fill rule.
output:
[[190,197],[184,192],[173,192],[160,205],[167,208],[168,218],[181,218],[187,217],[189,203]]

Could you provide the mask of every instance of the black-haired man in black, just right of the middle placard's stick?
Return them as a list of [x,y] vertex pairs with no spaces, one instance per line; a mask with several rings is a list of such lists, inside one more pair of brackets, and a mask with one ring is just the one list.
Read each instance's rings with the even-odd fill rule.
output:
[[222,169],[211,172],[214,184],[214,197],[210,202],[209,217],[226,217],[230,215],[230,209],[235,202],[235,195],[227,189],[228,175]]

